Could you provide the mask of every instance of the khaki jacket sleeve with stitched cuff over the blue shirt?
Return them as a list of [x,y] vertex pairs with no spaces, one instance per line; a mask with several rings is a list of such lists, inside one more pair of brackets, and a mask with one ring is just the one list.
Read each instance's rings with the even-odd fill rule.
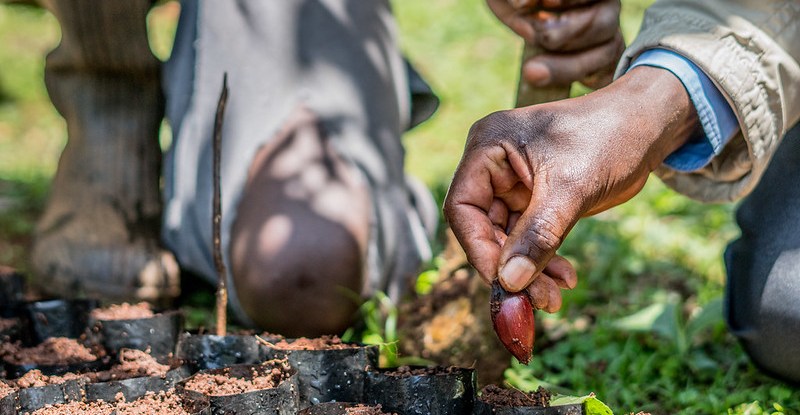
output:
[[741,127],[703,169],[681,173],[661,167],[656,174],[703,201],[746,196],[800,118],[800,0],[659,0],[645,13],[617,76],[656,47],[674,50],[705,71]]

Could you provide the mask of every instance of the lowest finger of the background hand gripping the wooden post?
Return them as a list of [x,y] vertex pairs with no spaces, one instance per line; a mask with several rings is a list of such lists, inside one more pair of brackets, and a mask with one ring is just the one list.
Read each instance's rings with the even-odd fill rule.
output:
[[531,85],[541,87],[569,85],[573,81],[595,75],[603,68],[613,72],[619,60],[621,42],[622,35],[618,32],[613,41],[591,49],[568,54],[537,55],[525,62],[522,76]]

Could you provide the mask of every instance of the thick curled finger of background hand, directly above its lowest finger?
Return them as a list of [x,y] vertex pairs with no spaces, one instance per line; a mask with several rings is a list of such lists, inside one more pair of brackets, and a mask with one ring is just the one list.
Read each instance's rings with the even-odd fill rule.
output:
[[613,39],[619,31],[619,11],[619,0],[602,0],[563,12],[540,11],[530,21],[536,44],[551,52],[572,52]]

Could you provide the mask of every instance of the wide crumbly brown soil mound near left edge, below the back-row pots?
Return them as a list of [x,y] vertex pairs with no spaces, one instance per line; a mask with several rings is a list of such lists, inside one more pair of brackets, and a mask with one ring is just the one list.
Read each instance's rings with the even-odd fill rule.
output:
[[40,366],[65,366],[97,360],[91,350],[66,337],[51,337],[38,346],[22,347],[19,343],[4,344],[0,356],[8,363]]

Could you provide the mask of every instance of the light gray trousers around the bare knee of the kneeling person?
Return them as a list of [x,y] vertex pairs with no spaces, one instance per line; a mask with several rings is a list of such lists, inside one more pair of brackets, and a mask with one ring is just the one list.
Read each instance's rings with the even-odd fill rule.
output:
[[[404,173],[400,135],[427,118],[436,101],[400,54],[388,1],[182,2],[165,66],[174,138],[165,159],[162,239],[183,268],[210,282],[216,280],[211,138],[223,73],[230,87],[221,163],[226,261],[253,157],[302,107],[319,119],[335,151],[370,191],[362,294],[399,294],[429,255],[426,230],[438,217],[427,190]],[[234,314],[248,324],[232,280],[229,287]]]

